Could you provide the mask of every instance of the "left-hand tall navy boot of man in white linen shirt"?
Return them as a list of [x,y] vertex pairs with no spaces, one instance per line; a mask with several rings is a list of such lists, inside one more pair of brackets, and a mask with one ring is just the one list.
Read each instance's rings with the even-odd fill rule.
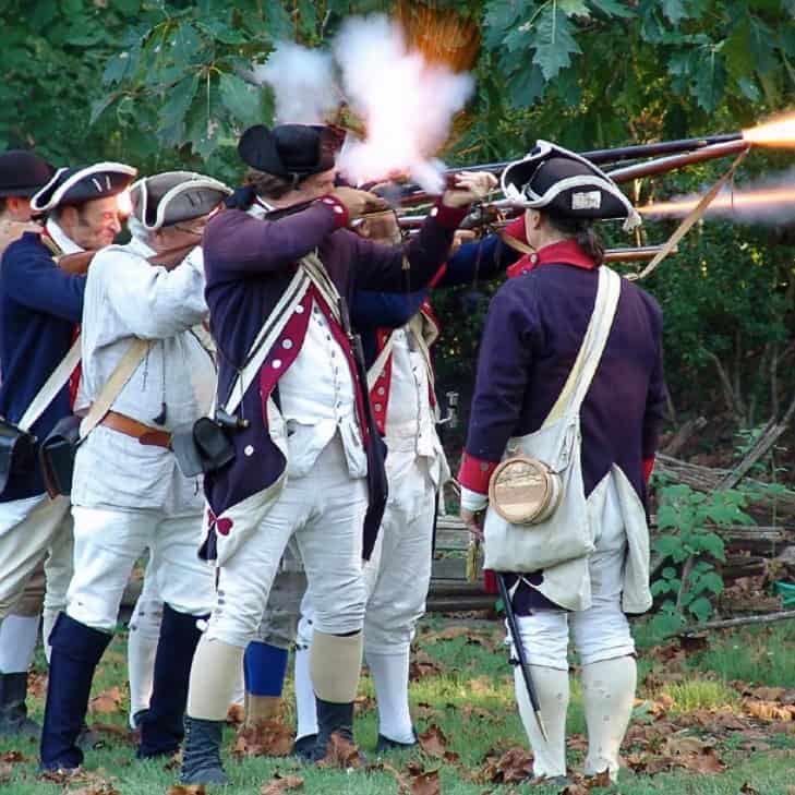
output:
[[52,654],[47,686],[41,768],[80,767],[83,751],[77,737],[88,709],[94,671],[111,636],[61,613],[50,635]]

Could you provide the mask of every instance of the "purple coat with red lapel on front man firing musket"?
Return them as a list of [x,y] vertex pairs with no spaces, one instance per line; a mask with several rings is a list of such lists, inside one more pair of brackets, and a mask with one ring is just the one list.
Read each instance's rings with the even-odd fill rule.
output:
[[[405,255],[411,264],[408,287],[415,290],[427,284],[444,263],[453,232],[466,212],[467,208],[439,205],[420,233],[402,248],[377,245],[342,228],[347,213],[329,198],[278,220],[260,220],[236,209],[220,213],[208,225],[203,242],[205,294],[219,351],[218,403],[227,400],[237,368],[244,362],[302,256],[318,252],[348,303],[359,289],[406,289]],[[286,459],[272,438],[266,402],[276,397],[278,378],[300,351],[308,314],[297,312],[289,320],[264,361],[260,380],[243,396],[239,414],[250,424],[232,434],[234,461],[205,478],[210,532],[203,552],[210,557],[215,546],[213,531],[224,537],[234,533],[233,519],[225,514],[269,489],[285,471]],[[361,401],[365,397],[359,392]]]

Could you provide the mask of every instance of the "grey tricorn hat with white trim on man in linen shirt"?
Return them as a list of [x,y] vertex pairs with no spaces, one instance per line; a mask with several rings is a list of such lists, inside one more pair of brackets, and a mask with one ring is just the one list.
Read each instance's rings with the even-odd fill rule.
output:
[[146,229],[160,229],[212,213],[232,193],[222,182],[193,171],[144,177],[130,189],[133,216]]

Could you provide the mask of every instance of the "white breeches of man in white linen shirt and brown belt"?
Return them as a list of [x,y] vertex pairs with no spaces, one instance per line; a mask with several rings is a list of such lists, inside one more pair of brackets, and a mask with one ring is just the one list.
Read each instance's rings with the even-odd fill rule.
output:
[[213,567],[196,554],[201,514],[72,507],[74,577],[67,613],[86,626],[112,633],[124,588],[148,547],[147,575],[178,613],[203,615],[213,604]]

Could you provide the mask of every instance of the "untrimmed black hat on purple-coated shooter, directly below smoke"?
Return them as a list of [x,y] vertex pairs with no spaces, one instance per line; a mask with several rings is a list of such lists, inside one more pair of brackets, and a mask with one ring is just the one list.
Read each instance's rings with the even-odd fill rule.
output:
[[269,130],[255,124],[242,134],[238,153],[246,166],[298,183],[334,168],[340,143],[330,127],[279,124]]

